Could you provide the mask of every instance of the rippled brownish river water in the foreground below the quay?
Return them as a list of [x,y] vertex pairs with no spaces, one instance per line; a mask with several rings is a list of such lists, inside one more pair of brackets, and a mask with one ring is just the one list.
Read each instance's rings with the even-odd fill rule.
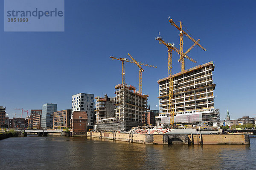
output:
[[151,145],[84,137],[0,140],[1,170],[238,170],[256,169],[250,145]]

